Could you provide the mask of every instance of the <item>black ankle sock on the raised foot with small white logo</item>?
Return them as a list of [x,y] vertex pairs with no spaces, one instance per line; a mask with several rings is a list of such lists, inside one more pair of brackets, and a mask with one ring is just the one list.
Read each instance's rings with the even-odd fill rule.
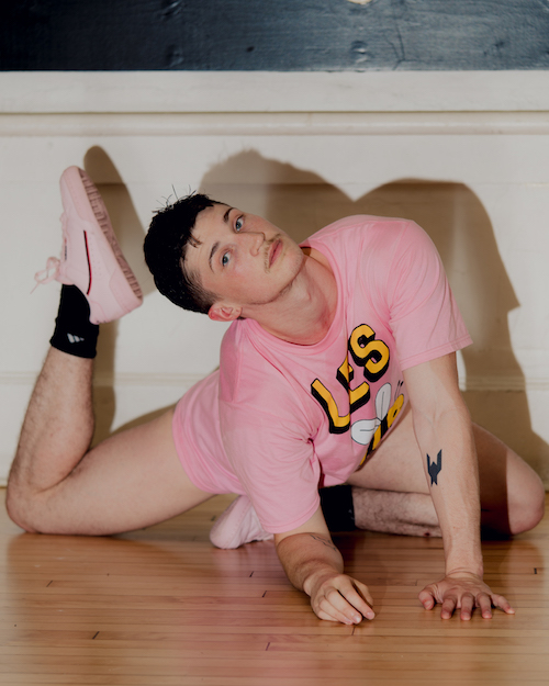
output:
[[55,331],[49,342],[57,350],[79,358],[94,358],[99,326],[90,322],[90,306],[76,285],[64,285]]

